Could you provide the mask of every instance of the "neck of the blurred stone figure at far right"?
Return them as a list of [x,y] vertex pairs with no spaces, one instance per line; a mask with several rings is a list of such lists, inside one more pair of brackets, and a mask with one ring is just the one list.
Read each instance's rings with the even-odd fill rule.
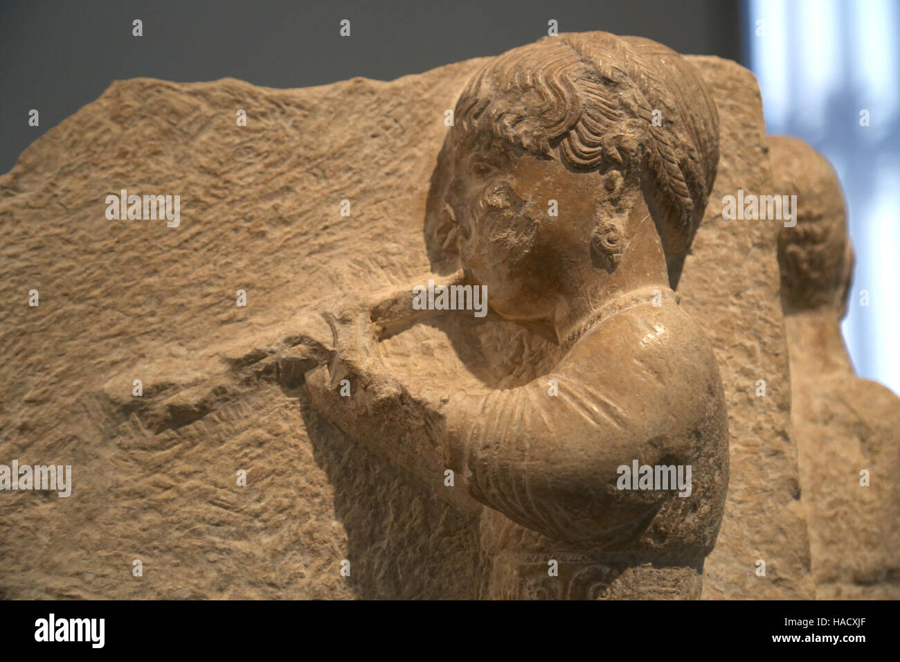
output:
[[832,308],[788,314],[785,327],[793,374],[854,372],[841,335],[841,322]]

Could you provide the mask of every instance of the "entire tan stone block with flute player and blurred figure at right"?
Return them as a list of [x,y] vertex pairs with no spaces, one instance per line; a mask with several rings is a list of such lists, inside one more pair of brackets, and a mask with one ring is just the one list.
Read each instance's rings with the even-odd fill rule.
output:
[[[799,599],[804,507],[817,596],[891,594],[896,399],[844,359],[842,211],[792,144],[746,69],[606,32],[114,83],[0,177],[0,291],[41,297],[4,331],[0,463],[74,465],[55,507],[4,494],[0,594]],[[795,233],[724,219],[779,187]],[[125,189],[178,222],[104,215]]]

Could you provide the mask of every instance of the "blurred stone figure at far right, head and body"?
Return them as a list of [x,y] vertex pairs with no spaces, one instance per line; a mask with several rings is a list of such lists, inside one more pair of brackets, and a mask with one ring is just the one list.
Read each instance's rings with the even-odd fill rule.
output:
[[797,195],[779,232],[792,418],[819,599],[900,597],[900,400],[856,376],[840,322],[853,250],[841,183],[796,138],[770,140],[774,187]]

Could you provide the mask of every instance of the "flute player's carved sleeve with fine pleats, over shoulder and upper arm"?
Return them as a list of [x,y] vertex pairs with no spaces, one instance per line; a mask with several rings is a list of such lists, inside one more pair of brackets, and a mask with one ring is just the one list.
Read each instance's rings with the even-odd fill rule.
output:
[[[468,413],[448,421],[467,422],[451,427],[451,466],[477,500],[553,540],[708,552],[727,485],[722,385],[706,338],[666,293],[660,306],[650,290],[606,306],[545,377],[451,399]],[[691,465],[691,494],[618,489],[617,468],[634,460]]]

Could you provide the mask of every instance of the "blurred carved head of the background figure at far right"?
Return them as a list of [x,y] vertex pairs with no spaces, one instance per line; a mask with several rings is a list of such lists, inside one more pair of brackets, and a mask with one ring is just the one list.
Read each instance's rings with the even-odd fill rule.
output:
[[781,304],[785,313],[847,310],[853,248],[841,182],[822,154],[797,138],[770,138],[772,189],[797,195],[797,225],[779,230]]

